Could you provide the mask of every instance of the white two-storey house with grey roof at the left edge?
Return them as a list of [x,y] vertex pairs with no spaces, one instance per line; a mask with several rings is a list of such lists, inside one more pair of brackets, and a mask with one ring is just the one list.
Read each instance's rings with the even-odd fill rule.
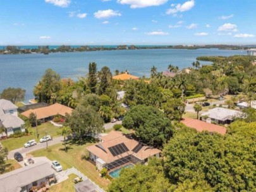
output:
[[18,117],[17,109],[9,100],[0,99],[0,126],[6,129],[4,135],[12,135],[15,131],[25,132],[25,122]]

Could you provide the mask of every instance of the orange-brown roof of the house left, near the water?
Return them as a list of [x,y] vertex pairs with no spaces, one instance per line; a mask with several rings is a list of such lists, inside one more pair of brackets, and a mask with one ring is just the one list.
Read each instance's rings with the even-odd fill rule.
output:
[[73,109],[71,109],[70,107],[66,107],[65,105],[56,103],[48,107],[30,109],[28,111],[22,112],[21,115],[29,118],[31,113],[36,113],[37,119],[44,119],[47,117],[56,116],[58,114],[61,116],[65,116],[66,113],[71,114],[72,111]]

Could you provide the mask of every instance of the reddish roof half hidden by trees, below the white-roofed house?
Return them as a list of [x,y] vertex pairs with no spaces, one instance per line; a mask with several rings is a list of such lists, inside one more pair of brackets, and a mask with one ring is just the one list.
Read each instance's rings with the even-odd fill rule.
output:
[[190,128],[194,128],[197,131],[209,131],[209,132],[217,132],[221,135],[225,135],[227,129],[219,126],[217,124],[212,124],[212,123],[206,123],[204,121],[200,121],[197,119],[190,119],[190,118],[185,118],[181,123],[185,124],[185,126],[188,126]]

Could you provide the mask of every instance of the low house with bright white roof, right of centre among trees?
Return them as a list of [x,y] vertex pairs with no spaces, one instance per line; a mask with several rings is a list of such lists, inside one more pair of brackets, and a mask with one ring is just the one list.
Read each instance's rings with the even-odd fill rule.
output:
[[236,117],[243,117],[243,112],[216,107],[201,114],[200,120],[216,124],[230,124]]

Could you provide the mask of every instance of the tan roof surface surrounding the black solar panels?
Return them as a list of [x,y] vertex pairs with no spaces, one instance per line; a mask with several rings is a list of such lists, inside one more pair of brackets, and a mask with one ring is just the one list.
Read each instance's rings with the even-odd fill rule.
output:
[[[138,159],[143,160],[156,155],[157,153],[161,153],[161,150],[145,145],[137,153],[133,152],[132,150],[139,144],[138,141],[128,138],[125,134],[119,131],[111,131],[108,135],[100,137],[100,139],[102,140],[101,143],[87,147],[87,150],[94,153],[94,155],[104,160],[107,164],[128,155],[133,155]],[[109,151],[109,147],[114,147],[121,143],[125,144],[128,148],[128,152],[113,156]]]

